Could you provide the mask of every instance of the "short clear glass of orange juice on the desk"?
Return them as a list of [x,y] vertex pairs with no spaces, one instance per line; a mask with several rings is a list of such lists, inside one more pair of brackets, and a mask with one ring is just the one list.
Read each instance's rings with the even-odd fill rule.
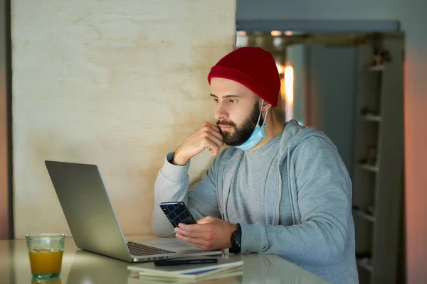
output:
[[28,234],[25,236],[33,277],[51,278],[60,275],[65,236],[65,234]]

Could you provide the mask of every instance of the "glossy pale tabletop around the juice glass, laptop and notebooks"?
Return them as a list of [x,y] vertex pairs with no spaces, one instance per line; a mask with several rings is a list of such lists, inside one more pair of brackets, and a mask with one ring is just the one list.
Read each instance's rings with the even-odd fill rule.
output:
[[[223,257],[236,257],[233,255]],[[199,283],[292,283],[324,284],[327,281],[275,255],[243,254],[243,275]],[[130,280],[129,263],[79,250],[73,239],[65,241],[60,278],[42,283],[97,284],[135,283]],[[0,283],[38,283],[31,278],[25,240],[0,241]],[[143,283],[143,282],[141,282]],[[159,282],[160,283],[160,282]]]

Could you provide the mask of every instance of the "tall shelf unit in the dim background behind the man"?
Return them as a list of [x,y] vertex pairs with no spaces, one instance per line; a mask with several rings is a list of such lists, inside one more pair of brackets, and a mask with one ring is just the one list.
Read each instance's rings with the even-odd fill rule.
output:
[[[391,61],[370,67],[376,47]],[[397,283],[403,208],[404,39],[396,35],[359,45],[353,217],[361,284]],[[373,208],[372,214],[367,209]]]

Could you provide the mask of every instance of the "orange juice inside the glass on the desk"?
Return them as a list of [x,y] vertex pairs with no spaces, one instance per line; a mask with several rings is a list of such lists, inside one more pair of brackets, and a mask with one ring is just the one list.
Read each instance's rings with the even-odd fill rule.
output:
[[33,274],[55,274],[60,273],[63,251],[48,251],[39,249],[31,251],[30,265]]

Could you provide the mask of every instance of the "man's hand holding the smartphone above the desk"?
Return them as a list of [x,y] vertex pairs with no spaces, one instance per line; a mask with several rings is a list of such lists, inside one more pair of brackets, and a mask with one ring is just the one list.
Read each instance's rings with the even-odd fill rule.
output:
[[197,224],[179,224],[179,227],[175,228],[175,236],[199,249],[212,251],[231,248],[231,234],[236,229],[236,224],[208,216],[197,221]]

